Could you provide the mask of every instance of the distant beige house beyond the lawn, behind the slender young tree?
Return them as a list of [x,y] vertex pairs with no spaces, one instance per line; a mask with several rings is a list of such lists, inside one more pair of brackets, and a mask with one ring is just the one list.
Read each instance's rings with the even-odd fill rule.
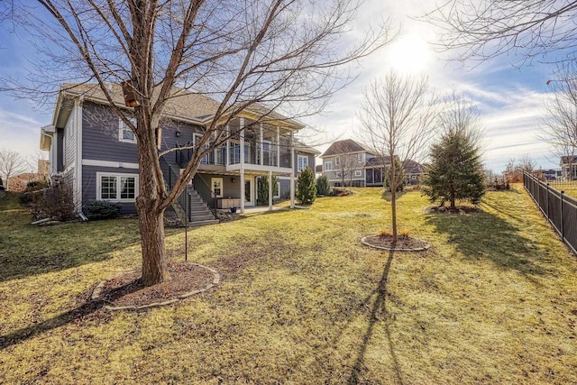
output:
[[[375,152],[352,139],[334,142],[321,155],[323,172],[329,185],[339,187],[381,187],[384,185],[384,171],[389,160],[382,159]],[[403,169],[411,185],[419,184],[425,172],[420,163],[407,160]]]

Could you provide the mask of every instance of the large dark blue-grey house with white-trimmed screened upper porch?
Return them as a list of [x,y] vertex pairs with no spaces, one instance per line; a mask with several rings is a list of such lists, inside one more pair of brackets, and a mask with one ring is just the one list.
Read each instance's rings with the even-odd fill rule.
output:
[[[109,90],[114,103],[124,108],[122,88],[109,85]],[[187,91],[167,103],[166,122],[160,123],[160,151],[182,148],[160,158],[169,187],[192,156],[194,150],[185,147],[196,145],[218,105],[209,97]],[[266,122],[258,122],[263,114],[267,115]],[[303,127],[284,116],[263,112],[261,106],[219,127],[226,133],[238,134],[203,158],[186,196],[183,194],[172,206],[180,220],[186,219],[183,216],[186,206],[191,207],[189,220],[206,223],[215,220],[210,216],[215,209],[234,206],[243,211],[244,207],[255,206],[257,177],[275,175],[288,182],[295,179],[300,154],[308,152],[292,137]],[[124,213],[136,213],[134,203],[139,193],[136,138],[107,105],[96,85],[60,87],[52,122],[41,129],[41,150],[50,151],[50,178],[58,177],[73,189],[78,211],[87,202],[109,200],[120,203]],[[314,156],[311,161],[307,155],[307,161],[314,165]],[[288,194],[292,193],[294,199],[294,190],[289,186],[290,183]],[[207,209],[212,209],[212,213]]]

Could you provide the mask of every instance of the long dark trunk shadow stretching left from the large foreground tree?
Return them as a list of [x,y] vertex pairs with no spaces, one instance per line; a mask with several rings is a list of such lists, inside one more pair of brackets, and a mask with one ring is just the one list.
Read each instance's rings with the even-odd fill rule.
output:
[[[131,285],[132,283],[128,283],[117,289],[111,290],[110,294],[107,295],[107,298],[109,298],[110,302],[113,302],[115,299],[121,298],[126,294],[140,289],[138,285]],[[125,289],[127,286],[129,289]],[[87,299],[87,301],[83,302],[80,306],[70,309],[58,316],[53,316],[40,323],[23,327],[22,329],[15,330],[7,335],[0,335],[0,349],[23,343],[37,335],[49,332],[50,330],[56,329],[60,326],[68,325],[72,322],[81,322],[83,319],[93,315],[98,310],[105,307],[107,303],[108,302],[104,300]]]

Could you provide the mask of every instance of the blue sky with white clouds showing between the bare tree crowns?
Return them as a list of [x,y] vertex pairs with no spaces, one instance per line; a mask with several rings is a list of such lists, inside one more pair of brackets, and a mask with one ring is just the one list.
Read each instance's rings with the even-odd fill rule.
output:
[[[400,5],[402,3],[402,5]],[[530,154],[537,165],[557,167],[558,160],[550,155],[546,143],[538,139],[545,115],[545,99],[550,96],[546,86],[554,65],[534,63],[521,69],[510,63],[515,57],[499,57],[477,67],[446,61],[447,55],[435,52],[431,42],[435,31],[412,17],[427,9],[419,1],[371,0],[360,10],[358,23],[367,23],[375,13],[390,16],[402,29],[389,46],[363,60],[355,69],[359,78],[334,96],[325,112],[304,122],[318,128],[322,134],[310,136],[310,142],[324,151],[335,139],[358,138],[359,109],[363,87],[371,78],[384,76],[389,69],[411,75],[424,74],[435,91],[441,94],[456,91],[470,96],[481,112],[485,130],[483,151],[485,164],[494,171],[503,170],[511,158]],[[28,41],[0,29],[0,73],[24,78],[35,52]],[[9,147],[23,156],[35,157],[40,142],[40,127],[50,124],[51,106],[30,100],[14,99],[0,92],[0,148]]]

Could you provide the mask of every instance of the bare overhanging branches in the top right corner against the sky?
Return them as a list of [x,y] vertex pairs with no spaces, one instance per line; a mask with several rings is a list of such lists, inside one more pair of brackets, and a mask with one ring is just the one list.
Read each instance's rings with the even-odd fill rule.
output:
[[486,60],[502,54],[524,60],[557,55],[575,60],[577,5],[555,0],[449,0],[428,14],[441,28],[441,45],[458,59]]

